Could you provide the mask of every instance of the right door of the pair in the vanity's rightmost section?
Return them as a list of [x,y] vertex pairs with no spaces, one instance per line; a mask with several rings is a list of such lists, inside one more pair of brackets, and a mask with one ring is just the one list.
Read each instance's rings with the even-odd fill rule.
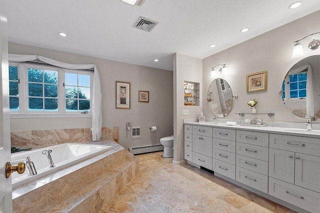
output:
[[320,157],[295,153],[294,185],[320,193]]

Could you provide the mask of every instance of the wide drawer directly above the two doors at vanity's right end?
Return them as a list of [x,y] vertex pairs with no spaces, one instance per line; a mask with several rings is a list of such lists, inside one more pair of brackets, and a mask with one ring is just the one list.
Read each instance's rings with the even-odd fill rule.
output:
[[319,141],[318,138],[270,134],[269,146],[275,149],[320,156]]

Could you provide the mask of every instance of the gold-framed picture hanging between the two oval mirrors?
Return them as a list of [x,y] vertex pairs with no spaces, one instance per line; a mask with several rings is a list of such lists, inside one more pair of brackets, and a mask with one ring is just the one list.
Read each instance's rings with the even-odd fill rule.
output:
[[266,90],[266,71],[246,75],[246,92]]

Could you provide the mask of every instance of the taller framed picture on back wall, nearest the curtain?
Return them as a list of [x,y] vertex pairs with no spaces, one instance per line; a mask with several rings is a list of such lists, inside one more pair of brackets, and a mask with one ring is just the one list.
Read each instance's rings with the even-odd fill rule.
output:
[[115,81],[115,108],[130,109],[130,83]]

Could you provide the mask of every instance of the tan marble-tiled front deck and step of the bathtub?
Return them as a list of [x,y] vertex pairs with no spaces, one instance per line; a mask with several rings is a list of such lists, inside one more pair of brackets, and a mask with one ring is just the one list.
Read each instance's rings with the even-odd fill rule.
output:
[[96,213],[138,173],[137,158],[113,149],[12,190],[13,212]]

